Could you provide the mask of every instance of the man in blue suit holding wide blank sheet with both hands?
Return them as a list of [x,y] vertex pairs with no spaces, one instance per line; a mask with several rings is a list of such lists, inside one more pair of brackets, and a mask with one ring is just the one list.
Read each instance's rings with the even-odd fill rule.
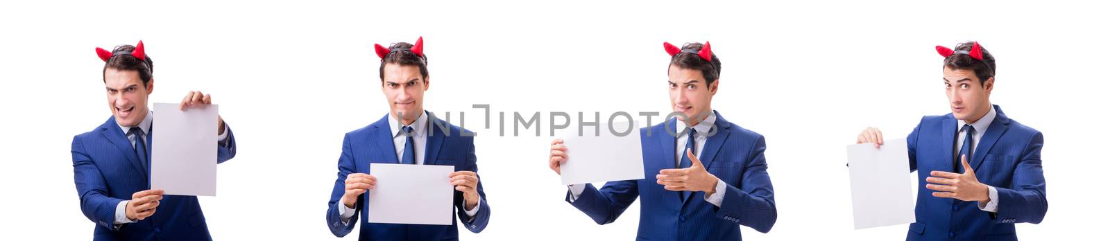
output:
[[490,222],[490,205],[477,175],[473,133],[451,125],[424,111],[428,88],[427,59],[423,38],[416,44],[375,44],[382,57],[379,67],[382,93],[390,103],[390,114],[343,137],[339,177],[327,201],[327,228],[335,237],[354,229],[355,214],[367,220],[365,200],[377,180],[370,164],[408,164],[454,166],[451,184],[455,187],[454,206],[458,220],[451,226],[367,223],[363,221],[359,240],[458,240],[458,222],[472,232],[481,232]]

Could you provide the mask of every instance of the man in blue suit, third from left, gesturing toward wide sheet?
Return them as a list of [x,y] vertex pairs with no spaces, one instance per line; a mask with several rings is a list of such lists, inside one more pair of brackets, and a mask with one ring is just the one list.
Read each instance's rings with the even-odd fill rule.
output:
[[[571,185],[566,201],[605,224],[639,197],[637,240],[740,240],[739,226],[770,231],[778,214],[764,137],[709,105],[720,60],[708,42],[664,48],[672,56],[667,75],[677,117],[640,129],[644,176],[654,178],[609,181],[602,189]],[[548,166],[556,174],[574,161],[566,151],[562,139],[552,142]]]

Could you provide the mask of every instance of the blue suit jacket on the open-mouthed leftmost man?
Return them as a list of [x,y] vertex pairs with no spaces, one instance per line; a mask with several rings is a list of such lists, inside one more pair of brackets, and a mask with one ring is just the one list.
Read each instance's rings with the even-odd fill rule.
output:
[[[235,137],[216,144],[216,163],[235,156]],[[149,145],[155,129],[147,135]],[[115,206],[134,192],[150,189],[149,167],[139,161],[134,147],[108,118],[92,132],[73,137],[73,182],[81,198],[81,212],[97,223],[93,240],[211,240],[200,202],[194,196],[163,196],[154,216],[115,230]]]

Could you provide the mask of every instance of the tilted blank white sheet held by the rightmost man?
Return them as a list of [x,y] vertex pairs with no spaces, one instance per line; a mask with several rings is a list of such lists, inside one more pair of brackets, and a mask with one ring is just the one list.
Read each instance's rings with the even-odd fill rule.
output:
[[848,146],[851,211],[856,229],[914,222],[914,180],[909,172],[906,139],[887,139],[882,146]]

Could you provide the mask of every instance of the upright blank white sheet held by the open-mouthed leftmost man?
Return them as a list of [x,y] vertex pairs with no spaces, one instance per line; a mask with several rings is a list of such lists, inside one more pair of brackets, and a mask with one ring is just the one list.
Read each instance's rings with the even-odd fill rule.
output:
[[167,195],[215,196],[216,105],[180,111],[155,103],[151,127],[150,188]]

